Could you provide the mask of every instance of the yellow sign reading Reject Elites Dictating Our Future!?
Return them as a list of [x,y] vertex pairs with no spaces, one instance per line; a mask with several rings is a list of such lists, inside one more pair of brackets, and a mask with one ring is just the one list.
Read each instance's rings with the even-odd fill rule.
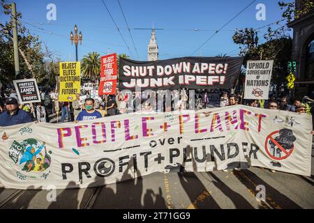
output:
[[59,101],[72,102],[81,89],[81,63],[60,62]]

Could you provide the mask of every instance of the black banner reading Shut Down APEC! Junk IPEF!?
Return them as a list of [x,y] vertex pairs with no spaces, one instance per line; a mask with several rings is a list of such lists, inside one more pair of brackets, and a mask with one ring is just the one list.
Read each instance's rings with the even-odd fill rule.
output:
[[233,89],[243,57],[182,57],[163,61],[120,59],[119,89]]

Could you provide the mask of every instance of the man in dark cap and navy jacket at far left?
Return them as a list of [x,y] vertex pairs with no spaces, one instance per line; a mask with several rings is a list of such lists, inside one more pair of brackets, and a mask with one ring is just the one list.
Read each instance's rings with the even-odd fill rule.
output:
[[30,123],[31,121],[29,114],[19,109],[16,98],[6,100],[6,112],[0,114],[0,126]]

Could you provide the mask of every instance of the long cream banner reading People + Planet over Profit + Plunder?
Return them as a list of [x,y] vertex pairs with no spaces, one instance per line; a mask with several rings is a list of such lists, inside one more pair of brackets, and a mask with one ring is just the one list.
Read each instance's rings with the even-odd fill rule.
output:
[[311,130],[307,114],[244,105],[15,125],[0,128],[0,185],[89,187],[251,166],[310,176]]

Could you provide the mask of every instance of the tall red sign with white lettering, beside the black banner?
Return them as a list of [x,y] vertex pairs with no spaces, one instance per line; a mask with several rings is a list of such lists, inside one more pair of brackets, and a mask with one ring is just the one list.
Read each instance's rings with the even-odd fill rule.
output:
[[100,58],[99,95],[114,95],[117,88],[117,54],[109,54]]

